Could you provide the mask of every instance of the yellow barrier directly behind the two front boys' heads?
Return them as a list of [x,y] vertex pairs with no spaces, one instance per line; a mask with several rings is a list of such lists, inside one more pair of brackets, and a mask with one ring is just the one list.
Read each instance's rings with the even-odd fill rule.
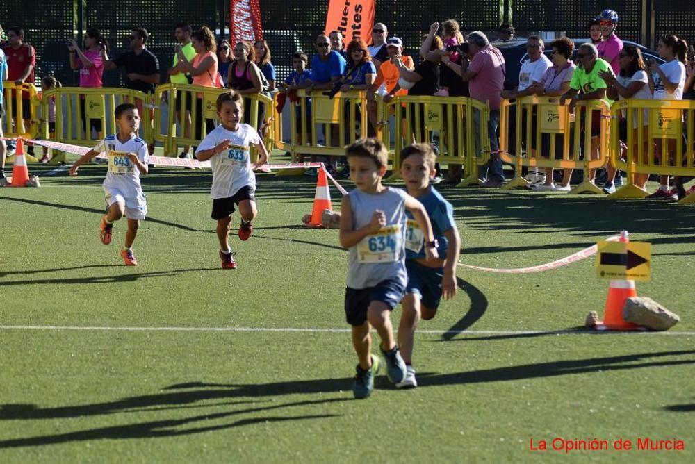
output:
[[[403,95],[382,105],[382,118],[389,120],[393,113],[395,140],[393,141],[393,174],[388,181],[398,179],[400,151],[413,142],[431,142],[439,137],[439,163],[463,168],[465,178],[459,185],[477,183],[477,165],[489,156],[490,142],[487,131],[489,106],[465,97],[422,97]],[[475,124],[476,113],[480,127]],[[389,131],[380,125],[382,140],[389,146]],[[479,135],[479,137],[478,137]],[[478,138],[478,140],[476,140]],[[480,146],[476,146],[476,144]],[[486,163],[486,160],[485,160]]]

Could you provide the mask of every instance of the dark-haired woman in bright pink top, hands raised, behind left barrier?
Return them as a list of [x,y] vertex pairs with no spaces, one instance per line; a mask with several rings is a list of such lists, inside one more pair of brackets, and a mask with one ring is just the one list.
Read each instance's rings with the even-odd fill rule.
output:
[[[104,56],[108,51],[106,40],[101,37],[99,29],[87,29],[85,33],[85,51],[81,51],[75,40],[70,40],[68,45],[70,49],[70,67],[80,70],[80,87],[85,88],[101,88],[101,76],[104,74],[104,60],[101,56],[101,51],[104,51]],[[101,119],[89,120],[89,127],[86,126],[85,119],[86,110],[84,105],[84,95],[80,95],[81,105],[80,114],[82,116],[82,124],[85,124],[85,133],[88,139],[91,140],[92,131],[97,132],[97,139],[101,139]]]

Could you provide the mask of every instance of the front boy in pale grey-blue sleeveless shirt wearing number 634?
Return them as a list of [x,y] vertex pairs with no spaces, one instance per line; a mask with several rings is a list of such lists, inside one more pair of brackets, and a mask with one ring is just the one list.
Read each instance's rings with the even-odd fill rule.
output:
[[406,374],[391,326],[391,311],[402,299],[407,283],[406,210],[423,231],[427,260],[435,260],[437,251],[425,207],[406,192],[382,185],[388,162],[384,144],[377,138],[360,139],[345,148],[345,155],[357,188],[341,203],[340,240],[350,253],[345,317],[352,326],[352,345],[359,359],[352,392],[360,399],[371,394],[379,371],[379,358],[371,354],[371,326],[381,338],[389,380],[400,383]]

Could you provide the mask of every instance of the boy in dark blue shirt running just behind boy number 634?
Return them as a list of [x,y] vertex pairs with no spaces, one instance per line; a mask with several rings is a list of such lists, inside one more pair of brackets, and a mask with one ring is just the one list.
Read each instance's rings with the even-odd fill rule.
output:
[[417,143],[405,147],[400,155],[400,172],[408,194],[425,206],[432,221],[436,251],[440,258],[427,260],[425,235],[409,213],[405,234],[405,267],[408,285],[403,298],[403,313],[398,326],[398,344],[406,364],[406,375],[398,388],[415,388],[418,383],[412,365],[415,327],[420,318],[430,320],[436,315],[439,301],[456,294],[456,263],[459,260],[461,238],[454,221],[453,208],[430,185],[436,170],[436,155],[430,144]]

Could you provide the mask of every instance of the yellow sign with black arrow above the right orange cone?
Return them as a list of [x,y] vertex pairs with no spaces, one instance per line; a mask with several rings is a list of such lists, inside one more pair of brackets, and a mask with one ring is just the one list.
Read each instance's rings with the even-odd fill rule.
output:
[[648,281],[651,278],[651,243],[598,242],[596,276]]

